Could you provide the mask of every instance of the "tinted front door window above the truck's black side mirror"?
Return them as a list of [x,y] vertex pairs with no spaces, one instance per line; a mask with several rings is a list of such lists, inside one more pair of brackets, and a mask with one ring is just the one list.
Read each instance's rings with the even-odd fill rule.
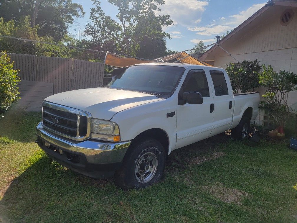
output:
[[187,84],[185,85],[183,91],[195,91],[199,92],[203,98],[209,97],[208,83],[204,70],[191,72],[188,75],[190,76],[187,77]]

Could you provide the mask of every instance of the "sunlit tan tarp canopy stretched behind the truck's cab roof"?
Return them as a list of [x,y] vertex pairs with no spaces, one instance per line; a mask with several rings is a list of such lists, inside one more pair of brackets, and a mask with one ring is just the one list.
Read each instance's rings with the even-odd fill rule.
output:
[[[184,59],[181,59],[185,56],[187,56],[187,57]],[[192,56],[189,56],[189,54],[187,54],[185,52],[179,52],[176,54],[171,54],[169,56],[163,56],[163,57],[161,57],[161,59],[165,62],[175,62],[175,61],[181,59],[180,61],[178,61],[179,63],[204,65],[204,66],[212,67],[210,64],[201,62],[198,59],[196,59]],[[145,59],[140,59],[140,58],[122,57],[122,56],[119,56],[117,54],[113,54],[110,52],[106,53],[105,60],[104,60],[104,64],[110,65],[113,67],[128,67],[128,66],[135,65],[135,64],[150,63],[150,62],[156,62],[156,61],[155,60],[145,60]]]

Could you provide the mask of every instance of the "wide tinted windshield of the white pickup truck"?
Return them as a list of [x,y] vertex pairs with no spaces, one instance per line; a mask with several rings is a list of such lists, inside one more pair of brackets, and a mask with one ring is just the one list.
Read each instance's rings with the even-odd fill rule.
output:
[[164,65],[131,66],[122,76],[113,79],[105,87],[171,95],[184,70],[183,67]]

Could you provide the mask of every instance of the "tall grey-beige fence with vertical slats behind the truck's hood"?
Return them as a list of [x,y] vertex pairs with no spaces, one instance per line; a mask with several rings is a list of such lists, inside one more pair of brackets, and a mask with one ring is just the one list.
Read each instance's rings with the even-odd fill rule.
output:
[[21,80],[53,83],[53,94],[102,87],[104,64],[70,58],[9,54]]

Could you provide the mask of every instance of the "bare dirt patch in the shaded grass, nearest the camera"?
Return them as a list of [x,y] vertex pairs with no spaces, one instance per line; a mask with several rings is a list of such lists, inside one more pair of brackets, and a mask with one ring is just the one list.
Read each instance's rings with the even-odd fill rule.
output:
[[222,202],[235,203],[237,205],[240,205],[241,201],[245,197],[249,196],[249,194],[244,191],[240,191],[235,188],[227,188],[219,182],[217,182],[214,186],[204,186],[203,189],[211,195],[213,195],[214,197],[217,197],[220,200],[222,200]]

